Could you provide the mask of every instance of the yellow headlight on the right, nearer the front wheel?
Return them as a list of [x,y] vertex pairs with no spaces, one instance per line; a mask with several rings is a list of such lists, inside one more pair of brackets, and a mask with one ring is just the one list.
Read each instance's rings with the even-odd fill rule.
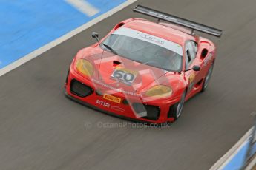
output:
[[148,89],[147,92],[145,92],[145,95],[148,97],[157,97],[157,98],[165,98],[169,97],[172,94],[172,89],[168,86],[164,85],[157,85],[151,87],[151,89]]

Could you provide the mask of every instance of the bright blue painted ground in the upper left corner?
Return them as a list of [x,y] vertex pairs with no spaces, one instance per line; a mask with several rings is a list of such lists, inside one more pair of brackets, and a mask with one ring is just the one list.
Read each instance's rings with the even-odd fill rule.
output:
[[87,0],[99,9],[88,17],[65,0],[0,0],[0,69],[125,1]]

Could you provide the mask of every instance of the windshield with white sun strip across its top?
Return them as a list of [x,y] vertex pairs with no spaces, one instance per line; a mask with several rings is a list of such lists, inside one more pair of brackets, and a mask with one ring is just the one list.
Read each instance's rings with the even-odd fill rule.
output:
[[120,28],[100,45],[116,55],[168,71],[179,72],[183,49],[179,44],[129,28]]

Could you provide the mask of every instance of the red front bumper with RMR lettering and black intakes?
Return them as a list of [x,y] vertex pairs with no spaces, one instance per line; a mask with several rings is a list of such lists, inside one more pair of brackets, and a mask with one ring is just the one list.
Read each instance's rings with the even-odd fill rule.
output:
[[[88,92],[85,94],[77,94],[73,92],[71,84],[73,81],[78,81],[81,84],[89,87]],[[102,94],[99,94],[99,89],[102,90],[105,87],[96,85],[93,81],[82,77],[77,72],[70,69],[65,84],[65,94],[79,103],[85,106],[90,106],[93,109],[105,112],[108,115],[114,115],[119,118],[125,118],[128,120],[142,122],[142,123],[168,123],[174,121],[174,118],[170,118],[169,109],[175,103],[179,102],[179,98],[168,99],[168,100],[157,100],[157,101],[141,101],[138,97],[124,95],[122,92],[116,92],[114,96],[120,98],[121,102],[117,103],[109,101],[103,98]],[[105,90],[105,89],[104,89]],[[128,102],[126,99],[128,98]],[[142,105],[143,109],[141,109]],[[146,115],[141,115],[146,114]]]

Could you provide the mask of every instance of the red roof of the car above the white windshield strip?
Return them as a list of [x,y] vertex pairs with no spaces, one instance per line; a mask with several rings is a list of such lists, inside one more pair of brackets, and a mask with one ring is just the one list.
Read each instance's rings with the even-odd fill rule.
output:
[[168,27],[167,24],[158,24],[144,19],[135,19],[134,21],[130,21],[125,24],[124,27],[155,35],[180,45],[185,44],[185,41],[192,37],[191,35],[188,35],[188,33],[183,33],[180,30]]

